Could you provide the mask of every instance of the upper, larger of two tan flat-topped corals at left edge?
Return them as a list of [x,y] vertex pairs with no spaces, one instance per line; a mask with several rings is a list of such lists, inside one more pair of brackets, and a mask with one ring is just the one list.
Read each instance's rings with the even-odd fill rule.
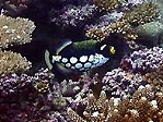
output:
[[22,45],[32,40],[31,34],[35,29],[35,25],[32,21],[0,15],[0,48]]

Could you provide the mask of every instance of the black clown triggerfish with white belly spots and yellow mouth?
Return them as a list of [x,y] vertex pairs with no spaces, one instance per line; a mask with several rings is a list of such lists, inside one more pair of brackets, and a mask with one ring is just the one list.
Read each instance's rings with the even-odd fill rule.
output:
[[72,42],[67,40],[56,53],[54,50],[45,51],[45,61],[49,70],[55,64],[63,71],[84,72],[106,63],[115,54],[115,48],[96,40]]

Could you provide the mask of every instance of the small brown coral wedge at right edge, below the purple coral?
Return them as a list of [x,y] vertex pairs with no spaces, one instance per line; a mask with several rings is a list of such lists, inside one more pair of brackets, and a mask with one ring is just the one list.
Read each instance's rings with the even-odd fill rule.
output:
[[156,90],[163,91],[163,64],[156,71],[147,73],[143,80],[153,85]]

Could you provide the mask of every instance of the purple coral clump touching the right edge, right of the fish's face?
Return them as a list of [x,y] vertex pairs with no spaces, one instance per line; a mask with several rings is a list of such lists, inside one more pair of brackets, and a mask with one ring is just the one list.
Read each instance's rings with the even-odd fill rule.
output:
[[133,73],[148,73],[158,69],[163,63],[163,48],[153,47],[133,51],[121,61],[121,68]]

